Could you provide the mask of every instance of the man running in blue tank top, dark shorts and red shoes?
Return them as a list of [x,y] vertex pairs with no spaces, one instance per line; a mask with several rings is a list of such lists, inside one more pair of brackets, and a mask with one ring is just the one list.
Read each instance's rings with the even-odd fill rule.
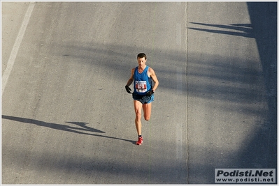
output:
[[[131,77],[125,86],[127,93],[131,93],[129,86],[134,81],[134,109],[136,113],[136,131],[138,132],[138,141],[136,145],[143,144],[143,137],[141,136],[141,109],[143,109],[144,118],[146,121],[151,116],[151,102],[154,101],[154,92],[159,85],[155,71],[146,65],[146,55],[138,54],[138,66],[131,70]],[[152,86],[152,80],[154,86]]]

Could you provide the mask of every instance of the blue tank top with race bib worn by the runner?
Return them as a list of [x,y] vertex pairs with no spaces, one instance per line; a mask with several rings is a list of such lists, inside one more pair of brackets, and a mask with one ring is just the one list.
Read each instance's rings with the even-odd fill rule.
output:
[[143,72],[138,72],[138,67],[134,71],[134,93],[138,95],[145,95],[146,92],[152,89],[152,78],[148,77],[148,66]]

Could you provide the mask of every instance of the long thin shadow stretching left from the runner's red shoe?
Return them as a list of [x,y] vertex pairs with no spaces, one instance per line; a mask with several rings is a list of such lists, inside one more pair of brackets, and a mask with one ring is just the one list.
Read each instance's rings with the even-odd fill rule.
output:
[[2,118],[7,119],[7,120],[11,120],[11,121],[18,121],[18,122],[21,122],[21,123],[29,123],[29,124],[35,124],[35,125],[38,125],[38,126],[42,126],[42,127],[49,127],[49,128],[55,129],[55,130],[62,130],[62,131],[66,131],[66,132],[74,132],[74,133],[77,133],[77,134],[87,134],[87,135],[92,135],[94,137],[105,137],[105,138],[109,138],[109,139],[119,139],[119,140],[123,140],[123,141],[129,141],[131,143],[135,142],[135,141],[127,140],[127,139],[103,136],[101,134],[85,133],[85,132],[99,132],[99,133],[106,133],[106,132],[103,132],[101,130],[96,130],[92,127],[88,127],[88,126],[86,126],[86,124],[88,124],[88,123],[84,123],[84,122],[69,122],[69,121],[67,121],[66,123],[71,123],[71,124],[75,124],[75,125],[80,126],[80,127],[71,127],[69,125],[62,125],[62,124],[57,124],[57,123],[47,123],[47,122],[44,122],[44,121],[38,121],[38,120],[30,119],[30,118],[20,118],[20,117],[15,117],[15,116],[2,115]]

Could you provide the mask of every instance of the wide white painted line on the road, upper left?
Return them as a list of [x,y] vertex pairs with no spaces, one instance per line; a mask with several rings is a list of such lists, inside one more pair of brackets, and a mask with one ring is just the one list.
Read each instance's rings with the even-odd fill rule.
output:
[[20,27],[20,31],[17,34],[17,38],[15,40],[15,44],[13,45],[12,52],[10,52],[10,57],[8,59],[7,67],[3,71],[3,75],[2,75],[2,94],[1,95],[3,95],[3,91],[5,90],[6,84],[8,82],[8,77],[10,76],[10,72],[13,69],[13,64],[15,63],[15,59],[17,57],[17,52],[18,52],[18,49],[20,49],[22,38],[24,36],[27,25],[29,23],[29,19],[31,17],[32,11],[33,11],[34,6],[35,6],[35,3],[36,2],[30,2],[29,3],[27,13],[24,16],[22,25]]

